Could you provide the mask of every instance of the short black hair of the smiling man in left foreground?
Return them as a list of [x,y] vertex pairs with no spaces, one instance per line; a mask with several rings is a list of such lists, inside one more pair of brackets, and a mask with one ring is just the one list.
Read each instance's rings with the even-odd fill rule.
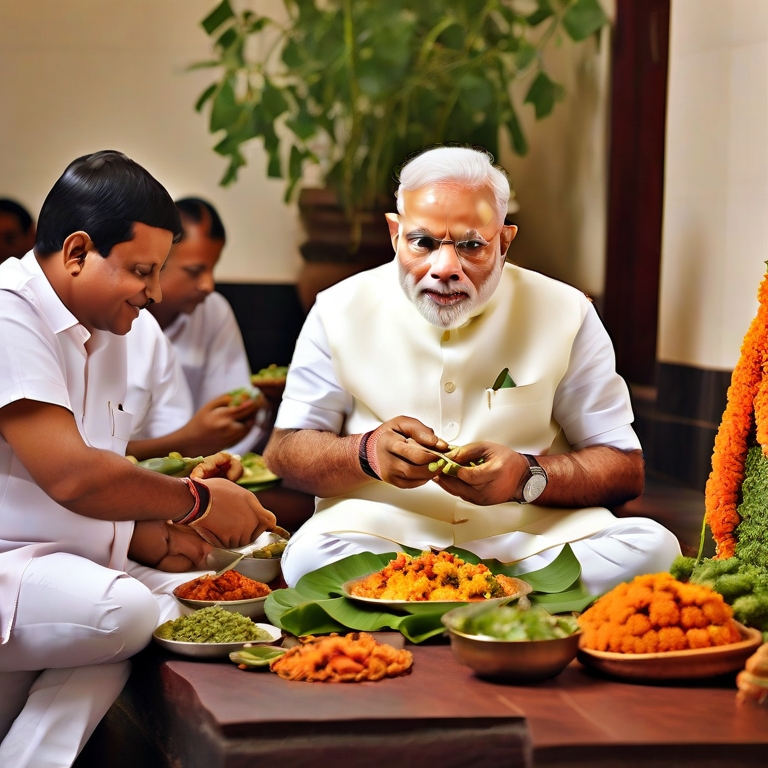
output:
[[134,223],[166,229],[181,238],[173,199],[148,171],[122,152],[102,150],[73,160],[40,209],[35,253],[50,256],[73,232],[88,234],[105,258],[133,239]]

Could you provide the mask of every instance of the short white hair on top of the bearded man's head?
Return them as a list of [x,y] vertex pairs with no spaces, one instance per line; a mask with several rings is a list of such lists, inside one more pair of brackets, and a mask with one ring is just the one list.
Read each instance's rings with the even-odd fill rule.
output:
[[493,164],[490,153],[469,147],[436,147],[422,152],[406,163],[400,171],[397,188],[397,210],[404,213],[403,192],[421,189],[429,184],[469,189],[488,185],[496,199],[496,211],[503,220],[509,203],[509,179]]

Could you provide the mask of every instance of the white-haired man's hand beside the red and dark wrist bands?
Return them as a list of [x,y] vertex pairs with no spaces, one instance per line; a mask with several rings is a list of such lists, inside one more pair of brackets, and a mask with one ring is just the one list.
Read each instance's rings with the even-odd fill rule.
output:
[[428,465],[435,456],[421,450],[422,445],[441,452],[449,448],[418,419],[397,416],[385,421],[368,439],[368,460],[384,482],[398,488],[418,488],[434,476]]

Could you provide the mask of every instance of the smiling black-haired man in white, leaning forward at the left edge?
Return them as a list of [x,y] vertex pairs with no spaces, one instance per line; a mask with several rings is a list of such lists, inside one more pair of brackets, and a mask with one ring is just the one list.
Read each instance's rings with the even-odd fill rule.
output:
[[97,152],[54,184],[34,250],[0,265],[2,766],[73,763],[127,659],[179,615],[170,592],[189,574],[149,566],[199,568],[207,542],[242,546],[275,524],[235,483],[123,455],[125,334],[160,300],[180,235],[166,190]]

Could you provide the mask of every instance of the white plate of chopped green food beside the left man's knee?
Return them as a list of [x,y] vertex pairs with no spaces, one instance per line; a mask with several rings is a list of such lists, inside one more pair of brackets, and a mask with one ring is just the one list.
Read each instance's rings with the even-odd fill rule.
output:
[[247,616],[214,605],[166,621],[155,629],[152,637],[173,653],[215,659],[227,657],[247,645],[276,643],[282,632],[271,624],[258,624]]

